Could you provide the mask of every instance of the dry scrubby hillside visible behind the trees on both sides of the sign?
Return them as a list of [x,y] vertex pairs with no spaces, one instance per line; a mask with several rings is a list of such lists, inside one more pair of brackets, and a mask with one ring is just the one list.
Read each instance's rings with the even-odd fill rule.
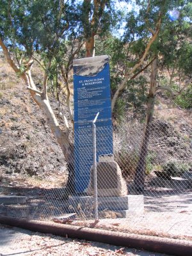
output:
[[[38,67],[34,75],[35,82],[40,83],[42,77]],[[192,153],[191,112],[173,106],[164,97],[159,96],[157,102],[150,143],[150,151],[157,154],[152,164],[161,164],[172,158],[189,163]],[[52,99],[51,105],[56,112]],[[122,131],[127,131],[128,150],[130,147],[139,150],[143,124],[140,126],[132,131],[127,123],[125,129],[122,127]],[[120,140],[123,140],[121,134]],[[28,184],[58,187],[66,184],[67,168],[44,114],[0,52],[0,181],[13,182],[16,177],[23,177]]]

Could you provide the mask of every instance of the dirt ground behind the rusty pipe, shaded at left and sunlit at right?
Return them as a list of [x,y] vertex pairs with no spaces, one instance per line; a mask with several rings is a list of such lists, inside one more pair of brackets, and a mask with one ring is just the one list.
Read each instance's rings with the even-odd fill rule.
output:
[[[23,217],[29,219],[52,220],[54,216],[63,215],[67,212],[67,201],[58,197],[61,189],[52,189],[51,191],[40,189],[38,186],[29,186],[28,183],[16,180],[6,184],[0,184],[1,195],[20,195],[28,198],[24,205],[0,205],[0,214]],[[3,185],[3,186],[1,186]],[[51,200],[48,194],[51,193]],[[54,195],[56,194],[56,195]],[[45,197],[48,196],[47,200]],[[47,203],[46,203],[47,202]],[[161,188],[161,192],[154,194],[154,191],[148,191],[144,196],[145,211],[143,214],[130,214],[127,218],[118,218],[118,216],[103,216],[102,220],[95,228],[106,230],[129,232],[132,234],[145,234],[149,236],[174,237],[184,241],[192,241],[192,190],[188,191],[167,191]],[[59,209],[61,205],[61,209]],[[137,206],[137,205],[136,205]],[[140,205],[138,205],[140,207]],[[57,211],[53,211],[56,208]],[[52,210],[51,210],[52,209]],[[108,219],[107,219],[108,218]],[[93,220],[82,221],[74,220],[72,225],[89,227]]]

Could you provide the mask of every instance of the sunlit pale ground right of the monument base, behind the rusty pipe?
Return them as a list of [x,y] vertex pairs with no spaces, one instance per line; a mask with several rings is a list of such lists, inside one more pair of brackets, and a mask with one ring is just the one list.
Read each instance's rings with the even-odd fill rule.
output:
[[[177,195],[144,197],[143,214],[129,214],[127,218],[99,220],[95,228],[170,237],[192,241],[192,192]],[[138,205],[139,207],[140,205]],[[90,227],[93,220],[73,221],[73,225]],[[187,241],[186,241],[187,243]]]

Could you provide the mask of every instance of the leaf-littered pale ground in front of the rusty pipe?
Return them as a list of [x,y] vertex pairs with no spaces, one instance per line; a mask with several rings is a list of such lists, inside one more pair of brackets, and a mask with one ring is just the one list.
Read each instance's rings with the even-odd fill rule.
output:
[[166,256],[0,225],[1,256]]

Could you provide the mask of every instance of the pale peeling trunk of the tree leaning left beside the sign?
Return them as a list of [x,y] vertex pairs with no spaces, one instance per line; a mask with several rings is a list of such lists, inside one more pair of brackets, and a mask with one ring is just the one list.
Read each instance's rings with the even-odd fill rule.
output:
[[[68,181],[67,181],[67,193],[71,194],[74,193],[74,145],[69,140],[69,129],[66,127],[66,131],[62,131],[54,112],[52,111],[51,105],[49,103],[49,99],[47,97],[47,72],[45,70],[44,74],[44,90],[40,92],[37,90],[35,84],[33,83],[33,79],[31,77],[31,67],[33,66],[33,58],[31,58],[28,63],[26,63],[25,67],[26,70],[20,74],[20,67],[17,66],[8,51],[6,45],[4,45],[3,40],[0,38],[0,46],[3,49],[4,56],[6,57],[8,63],[13,68],[16,74],[23,79],[24,83],[26,84],[29,92],[31,93],[31,97],[35,100],[36,104],[42,109],[44,112],[47,122],[51,127],[52,134],[56,141],[61,147],[65,159],[68,165]],[[47,68],[50,68],[51,60],[48,63]]]

